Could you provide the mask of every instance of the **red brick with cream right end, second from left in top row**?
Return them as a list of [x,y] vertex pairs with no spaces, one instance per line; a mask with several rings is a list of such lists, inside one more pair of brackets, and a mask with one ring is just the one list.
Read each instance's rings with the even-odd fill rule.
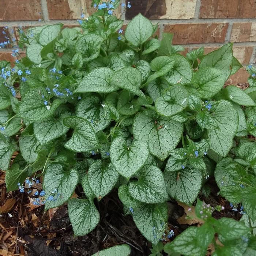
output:
[[81,0],[46,0],[49,19],[80,19],[82,14]]

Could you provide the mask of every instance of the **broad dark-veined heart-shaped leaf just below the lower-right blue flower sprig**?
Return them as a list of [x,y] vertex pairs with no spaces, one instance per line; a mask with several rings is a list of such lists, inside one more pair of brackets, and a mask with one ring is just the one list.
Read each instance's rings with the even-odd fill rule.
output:
[[185,204],[192,204],[195,201],[202,187],[200,170],[186,166],[179,175],[177,172],[164,172],[163,176],[170,197]]

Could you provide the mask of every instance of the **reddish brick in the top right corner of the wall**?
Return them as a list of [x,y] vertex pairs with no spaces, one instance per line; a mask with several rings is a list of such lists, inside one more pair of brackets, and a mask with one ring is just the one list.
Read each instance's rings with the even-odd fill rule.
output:
[[256,18],[256,0],[201,0],[199,18]]

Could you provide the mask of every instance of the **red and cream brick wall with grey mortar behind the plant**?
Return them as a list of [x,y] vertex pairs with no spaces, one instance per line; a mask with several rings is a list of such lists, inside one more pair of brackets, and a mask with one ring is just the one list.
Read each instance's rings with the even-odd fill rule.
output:
[[[128,0],[121,0],[123,3]],[[132,8],[123,14],[125,23],[141,12],[162,32],[174,34],[173,44],[186,51],[204,46],[208,53],[234,42],[234,56],[244,65],[256,63],[256,0],[129,0]],[[76,25],[82,10],[91,14],[91,0],[0,0],[0,42],[18,26],[40,26],[56,22]],[[123,10],[119,8],[117,15]],[[41,20],[41,21],[39,21]],[[2,34],[8,26],[6,34]],[[10,45],[9,45],[10,47]],[[11,49],[0,49],[0,60],[13,60]],[[240,69],[230,83],[246,83]]]

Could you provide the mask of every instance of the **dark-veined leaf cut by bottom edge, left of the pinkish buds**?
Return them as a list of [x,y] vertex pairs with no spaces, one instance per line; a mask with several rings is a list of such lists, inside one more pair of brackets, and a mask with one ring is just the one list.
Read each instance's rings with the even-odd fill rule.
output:
[[188,227],[165,248],[186,256],[204,256],[205,253],[197,240],[197,228]]

